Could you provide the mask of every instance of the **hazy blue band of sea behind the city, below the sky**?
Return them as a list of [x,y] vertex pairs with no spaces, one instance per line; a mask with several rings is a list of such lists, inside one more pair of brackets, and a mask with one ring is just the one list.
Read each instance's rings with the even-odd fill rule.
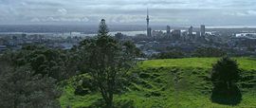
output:
[[[182,31],[187,30],[189,27],[172,27],[173,29],[181,29]],[[256,27],[243,27],[243,26],[206,26],[207,30],[223,30],[231,29],[234,32],[242,33],[256,33]],[[114,36],[116,33],[120,32],[127,36],[136,36],[137,34],[146,34],[145,26],[143,25],[120,25],[120,26],[109,26],[109,34]],[[154,30],[162,30],[166,32],[166,26],[152,26]],[[199,26],[194,27],[194,30],[199,30]],[[97,35],[98,26],[97,25],[87,25],[87,26],[68,26],[68,25],[0,25],[0,36],[1,34],[27,34],[27,35],[46,35],[46,36],[95,36]],[[240,35],[240,34],[238,34]]]

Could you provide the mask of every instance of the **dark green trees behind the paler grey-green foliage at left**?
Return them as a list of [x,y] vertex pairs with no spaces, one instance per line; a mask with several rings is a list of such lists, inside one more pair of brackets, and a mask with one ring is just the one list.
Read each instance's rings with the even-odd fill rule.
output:
[[44,45],[26,45],[21,50],[3,54],[12,66],[29,65],[34,75],[41,74],[63,81],[77,74],[76,52],[47,48]]

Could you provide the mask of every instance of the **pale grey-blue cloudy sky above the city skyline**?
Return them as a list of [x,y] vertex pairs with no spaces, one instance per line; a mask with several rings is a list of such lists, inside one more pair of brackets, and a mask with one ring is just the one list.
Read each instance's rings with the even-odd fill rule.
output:
[[0,0],[0,25],[256,26],[256,0]]

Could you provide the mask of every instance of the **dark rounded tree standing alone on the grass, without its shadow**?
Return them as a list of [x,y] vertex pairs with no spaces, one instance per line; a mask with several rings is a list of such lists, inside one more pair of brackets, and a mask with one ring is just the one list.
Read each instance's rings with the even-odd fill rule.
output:
[[236,61],[223,57],[212,66],[211,81],[213,85],[223,85],[229,89],[240,79],[240,70]]

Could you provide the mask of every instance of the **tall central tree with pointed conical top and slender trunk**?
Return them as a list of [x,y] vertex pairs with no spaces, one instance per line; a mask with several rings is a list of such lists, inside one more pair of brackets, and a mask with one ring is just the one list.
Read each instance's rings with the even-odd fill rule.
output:
[[80,44],[83,71],[95,81],[106,107],[113,107],[113,95],[117,83],[136,63],[137,48],[131,42],[119,43],[108,35],[105,20],[101,20],[96,38],[85,39]]

